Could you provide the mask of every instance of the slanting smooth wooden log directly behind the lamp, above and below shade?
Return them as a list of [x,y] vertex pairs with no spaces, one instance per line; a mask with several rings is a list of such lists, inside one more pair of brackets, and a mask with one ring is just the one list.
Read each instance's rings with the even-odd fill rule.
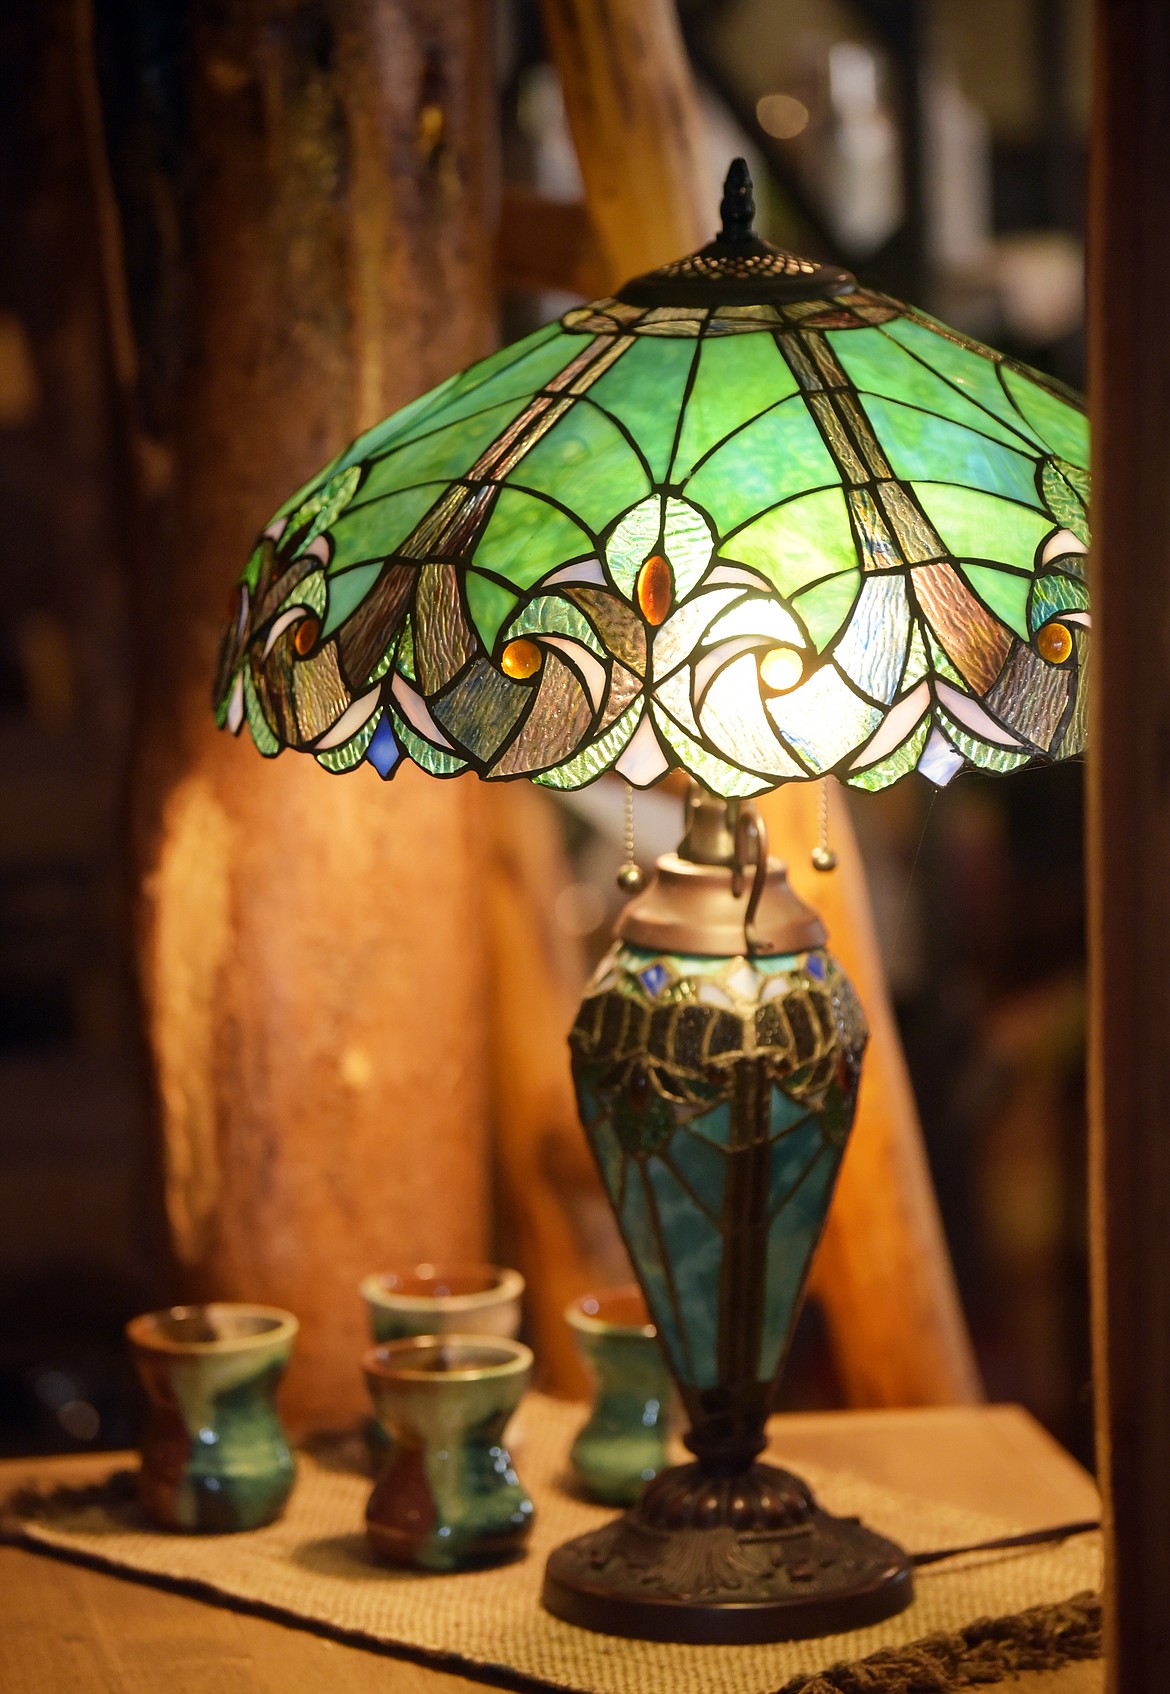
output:
[[[698,102],[672,0],[542,0],[564,86],[606,286],[691,251],[715,232]],[[838,796],[840,798],[840,796]],[[816,791],[787,784],[764,803],[772,850],[794,869],[816,840]],[[977,1399],[921,1127],[889,1001],[865,871],[835,808],[840,869],[801,891],[826,913],[858,984],[872,1037],[858,1120],[814,1269],[842,1381],[853,1404]]]

